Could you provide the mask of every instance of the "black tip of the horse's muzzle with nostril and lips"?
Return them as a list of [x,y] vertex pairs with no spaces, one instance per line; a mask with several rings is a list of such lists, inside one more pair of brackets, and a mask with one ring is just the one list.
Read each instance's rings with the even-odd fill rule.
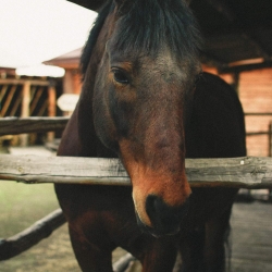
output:
[[162,198],[149,195],[146,200],[146,211],[152,223],[152,228],[161,235],[174,234],[188,211],[188,201],[181,207],[171,207]]

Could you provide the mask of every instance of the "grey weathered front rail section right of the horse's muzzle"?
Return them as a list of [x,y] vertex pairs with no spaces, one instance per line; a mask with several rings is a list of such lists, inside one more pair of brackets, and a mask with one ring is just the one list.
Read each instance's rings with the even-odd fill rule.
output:
[[272,158],[187,159],[191,186],[267,188],[272,186]]

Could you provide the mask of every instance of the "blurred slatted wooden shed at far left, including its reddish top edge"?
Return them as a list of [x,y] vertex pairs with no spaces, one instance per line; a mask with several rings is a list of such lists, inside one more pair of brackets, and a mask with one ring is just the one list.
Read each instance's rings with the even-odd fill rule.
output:
[[[58,79],[17,76],[14,69],[0,69],[0,118],[55,116],[57,97],[61,92]],[[0,137],[13,145],[26,146],[51,141],[53,133]]]

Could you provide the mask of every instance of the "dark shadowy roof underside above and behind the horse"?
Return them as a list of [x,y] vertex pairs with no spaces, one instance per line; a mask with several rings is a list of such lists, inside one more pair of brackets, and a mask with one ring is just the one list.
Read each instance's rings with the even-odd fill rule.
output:
[[[97,10],[106,0],[69,0]],[[272,66],[271,0],[190,0],[205,48],[202,62],[233,73]]]

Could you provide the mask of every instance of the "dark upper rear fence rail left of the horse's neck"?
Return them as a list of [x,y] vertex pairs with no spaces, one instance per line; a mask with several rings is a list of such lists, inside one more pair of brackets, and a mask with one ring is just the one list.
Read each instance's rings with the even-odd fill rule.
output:
[[3,118],[0,119],[0,136],[64,129],[67,121],[69,118]]

